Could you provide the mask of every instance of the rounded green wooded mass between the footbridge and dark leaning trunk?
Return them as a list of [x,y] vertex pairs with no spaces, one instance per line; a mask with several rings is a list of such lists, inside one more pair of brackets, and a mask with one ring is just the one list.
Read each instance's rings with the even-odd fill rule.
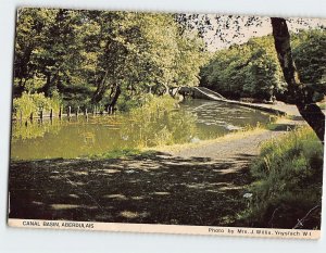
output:
[[201,69],[200,84],[231,99],[268,101],[278,96],[283,92],[281,71],[272,36],[215,52]]

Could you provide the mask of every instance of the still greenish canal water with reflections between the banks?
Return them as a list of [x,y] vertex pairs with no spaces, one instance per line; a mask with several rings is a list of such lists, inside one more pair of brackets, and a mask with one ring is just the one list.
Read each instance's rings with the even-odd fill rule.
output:
[[173,112],[85,116],[13,123],[12,160],[83,157],[112,150],[213,139],[244,126],[266,124],[258,110],[223,102],[191,100]]

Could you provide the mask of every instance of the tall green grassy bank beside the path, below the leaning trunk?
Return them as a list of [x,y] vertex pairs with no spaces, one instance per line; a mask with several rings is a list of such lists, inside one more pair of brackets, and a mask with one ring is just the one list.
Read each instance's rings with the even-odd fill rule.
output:
[[[263,144],[251,166],[256,181],[246,220],[250,226],[319,227],[323,179],[323,144],[308,127]],[[299,226],[300,228],[300,226]]]

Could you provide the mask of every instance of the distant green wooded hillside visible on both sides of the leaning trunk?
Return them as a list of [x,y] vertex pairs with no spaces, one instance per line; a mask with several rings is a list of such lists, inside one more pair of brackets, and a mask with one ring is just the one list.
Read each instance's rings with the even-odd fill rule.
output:
[[[321,29],[291,36],[293,59],[303,83],[325,83],[326,33]],[[323,56],[324,55],[324,56]],[[252,38],[217,51],[201,71],[201,86],[227,98],[284,100],[285,81],[272,36]]]

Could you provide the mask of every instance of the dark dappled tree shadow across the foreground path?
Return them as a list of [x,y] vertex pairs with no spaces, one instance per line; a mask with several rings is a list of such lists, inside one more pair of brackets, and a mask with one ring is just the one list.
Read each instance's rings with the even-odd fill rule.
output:
[[13,162],[10,218],[238,226],[251,155]]

